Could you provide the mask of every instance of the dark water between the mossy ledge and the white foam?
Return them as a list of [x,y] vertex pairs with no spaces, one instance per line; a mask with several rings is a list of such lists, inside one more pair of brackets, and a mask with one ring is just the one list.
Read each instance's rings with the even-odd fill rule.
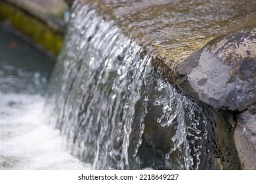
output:
[[0,29],[0,40],[0,91],[43,95],[53,59],[9,31]]

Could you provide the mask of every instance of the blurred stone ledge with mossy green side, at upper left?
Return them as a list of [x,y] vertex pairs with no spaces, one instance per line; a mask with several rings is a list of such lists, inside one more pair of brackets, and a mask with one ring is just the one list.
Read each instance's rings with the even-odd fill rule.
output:
[[65,13],[68,14],[68,3],[64,0],[0,1],[1,26],[22,32],[52,56],[62,46]]

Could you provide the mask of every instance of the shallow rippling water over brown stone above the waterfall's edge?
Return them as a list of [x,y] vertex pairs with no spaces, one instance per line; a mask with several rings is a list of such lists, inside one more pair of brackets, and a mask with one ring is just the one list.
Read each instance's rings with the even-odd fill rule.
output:
[[[251,0],[79,0],[163,60],[162,74],[215,37],[256,23]],[[168,69],[166,69],[168,72]]]

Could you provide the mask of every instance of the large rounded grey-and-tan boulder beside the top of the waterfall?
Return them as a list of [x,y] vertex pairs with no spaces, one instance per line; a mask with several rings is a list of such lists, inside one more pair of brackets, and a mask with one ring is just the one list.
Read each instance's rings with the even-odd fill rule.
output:
[[208,42],[178,72],[192,97],[217,110],[245,110],[256,101],[256,25]]

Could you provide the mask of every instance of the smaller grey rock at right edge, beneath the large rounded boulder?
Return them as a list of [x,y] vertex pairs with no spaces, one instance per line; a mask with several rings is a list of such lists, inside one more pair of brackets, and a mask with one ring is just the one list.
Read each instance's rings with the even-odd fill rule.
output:
[[[255,106],[253,107],[255,108]],[[254,114],[252,114],[254,113]],[[238,115],[234,140],[243,169],[256,169],[256,114],[247,110]]]

